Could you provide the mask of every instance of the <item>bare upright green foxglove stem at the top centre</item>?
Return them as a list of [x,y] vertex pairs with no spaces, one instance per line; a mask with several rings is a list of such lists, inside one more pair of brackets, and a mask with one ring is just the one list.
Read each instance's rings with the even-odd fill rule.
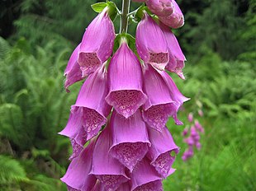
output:
[[130,0],[123,0],[122,2],[122,14],[120,22],[120,33],[127,32],[128,30],[128,13],[130,11]]

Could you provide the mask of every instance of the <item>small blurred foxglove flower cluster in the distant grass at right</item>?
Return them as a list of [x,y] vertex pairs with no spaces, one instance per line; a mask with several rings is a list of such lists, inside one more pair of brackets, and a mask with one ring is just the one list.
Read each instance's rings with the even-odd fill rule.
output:
[[[203,112],[201,109],[198,110],[198,114],[200,117],[203,116]],[[191,158],[194,155],[194,147],[197,147],[197,150],[201,149],[199,133],[205,132],[205,129],[201,126],[201,123],[199,123],[197,119],[194,119],[192,113],[189,113],[187,115],[187,119],[190,123],[192,123],[192,125],[190,127],[190,134],[188,135],[188,137],[184,138],[184,142],[187,143],[188,148],[183,153],[183,161],[187,161],[187,159]],[[188,131],[189,128],[185,128],[183,130],[183,137],[187,136]]]

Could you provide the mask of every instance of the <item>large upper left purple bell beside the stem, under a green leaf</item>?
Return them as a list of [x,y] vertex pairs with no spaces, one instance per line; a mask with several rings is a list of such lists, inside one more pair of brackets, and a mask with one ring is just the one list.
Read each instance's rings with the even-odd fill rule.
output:
[[91,22],[83,35],[78,63],[86,76],[97,70],[111,56],[115,40],[114,25],[106,7]]

